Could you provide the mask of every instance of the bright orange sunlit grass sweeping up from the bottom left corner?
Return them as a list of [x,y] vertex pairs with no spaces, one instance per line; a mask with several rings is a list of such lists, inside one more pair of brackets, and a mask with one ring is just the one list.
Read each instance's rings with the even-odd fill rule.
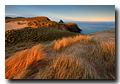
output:
[[31,49],[21,51],[5,60],[5,79],[13,77],[32,63],[44,58],[45,53],[41,45],[34,46]]

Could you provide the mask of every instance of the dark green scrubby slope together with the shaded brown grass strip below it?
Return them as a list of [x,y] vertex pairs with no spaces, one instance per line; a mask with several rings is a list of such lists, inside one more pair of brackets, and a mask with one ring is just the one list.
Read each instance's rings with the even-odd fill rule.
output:
[[16,52],[31,48],[35,44],[73,37],[78,33],[58,30],[55,27],[26,27],[19,30],[5,31],[5,59]]

